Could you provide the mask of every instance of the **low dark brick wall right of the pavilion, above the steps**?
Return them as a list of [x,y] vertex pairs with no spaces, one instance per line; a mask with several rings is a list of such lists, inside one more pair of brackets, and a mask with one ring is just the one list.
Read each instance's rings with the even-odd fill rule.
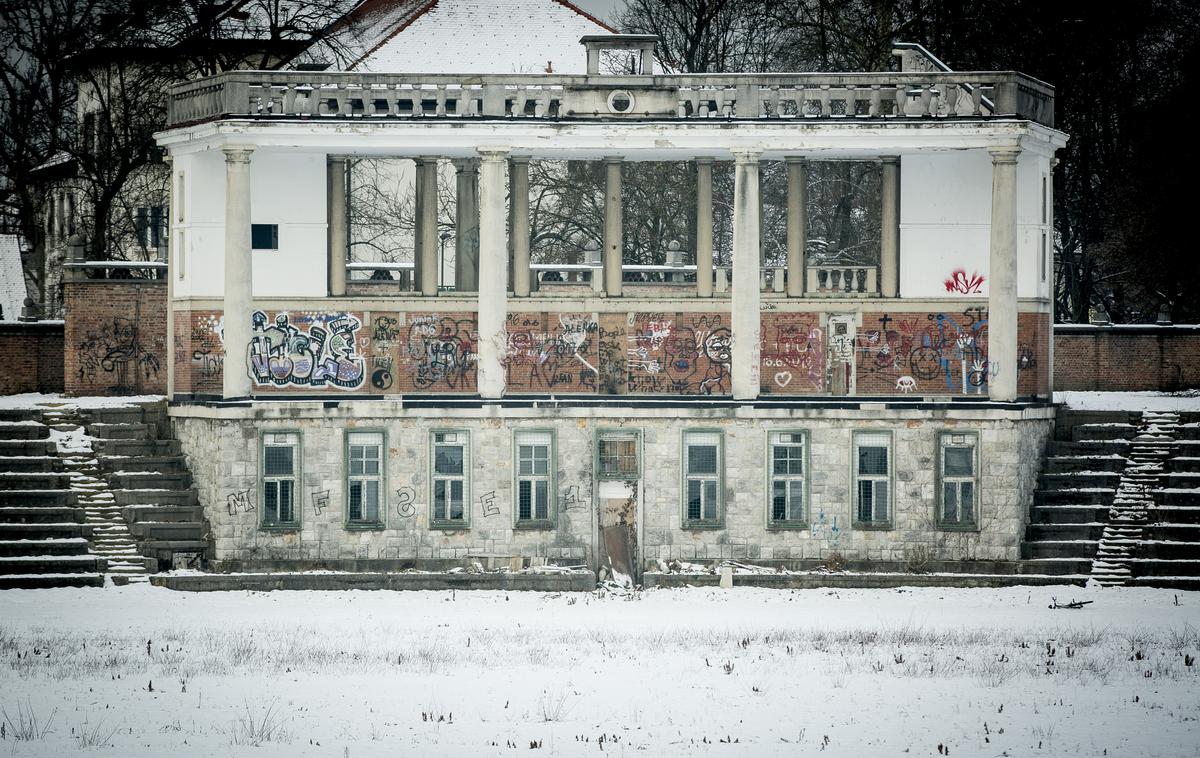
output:
[[1200,387],[1200,326],[1060,324],[1054,384],[1060,391]]

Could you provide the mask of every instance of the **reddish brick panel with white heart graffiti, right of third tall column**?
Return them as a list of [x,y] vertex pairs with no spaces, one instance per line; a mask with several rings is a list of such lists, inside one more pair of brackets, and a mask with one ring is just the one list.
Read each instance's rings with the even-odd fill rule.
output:
[[762,390],[785,395],[823,392],[826,345],[817,313],[762,318]]

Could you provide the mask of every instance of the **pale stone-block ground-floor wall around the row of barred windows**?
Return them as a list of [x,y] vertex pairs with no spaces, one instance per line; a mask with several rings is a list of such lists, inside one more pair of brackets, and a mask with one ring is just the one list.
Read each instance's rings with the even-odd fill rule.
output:
[[[671,417],[650,408],[401,409],[391,401],[350,401],[337,408],[288,403],[252,408],[175,407],[175,432],[188,456],[200,503],[212,525],[218,561],[462,560],[468,555],[598,559],[599,429],[642,434],[643,479],[638,519],[643,560],[800,560],[834,553],[852,560],[1014,560],[1032,501],[1040,455],[1052,426],[1049,409],[878,413],[858,410],[694,409]],[[430,433],[470,433],[469,528],[430,528]],[[552,428],[557,434],[558,517],[552,529],[514,527],[512,434]],[[725,518],[718,529],[684,529],[680,446],[685,429],[724,435]],[[806,429],[811,440],[810,523],[767,528],[768,431]],[[344,434],[388,437],[385,528],[344,527]],[[852,524],[852,429],[894,434],[894,518],[890,529]],[[301,525],[259,529],[259,434],[300,431],[304,458],[298,497]],[[977,431],[980,438],[980,518],[974,531],[943,531],[934,522],[936,440],[941,431]]]

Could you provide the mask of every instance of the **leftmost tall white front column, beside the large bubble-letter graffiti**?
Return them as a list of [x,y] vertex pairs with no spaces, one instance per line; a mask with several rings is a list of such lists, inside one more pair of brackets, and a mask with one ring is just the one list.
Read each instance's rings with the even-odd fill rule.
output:
[[250,397],[250,315],[253,306],[250,248],[250,154],[253,148],[222,148],[226,154],[224,374],[221,396]]

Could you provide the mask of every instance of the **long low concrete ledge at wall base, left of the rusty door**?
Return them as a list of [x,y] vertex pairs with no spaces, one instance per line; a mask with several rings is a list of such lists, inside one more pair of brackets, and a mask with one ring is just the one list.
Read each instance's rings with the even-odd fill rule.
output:
[[572,573],[162,573],[155,586],[191,592],[228,590],[535,590],[587,592],[590,571]]

